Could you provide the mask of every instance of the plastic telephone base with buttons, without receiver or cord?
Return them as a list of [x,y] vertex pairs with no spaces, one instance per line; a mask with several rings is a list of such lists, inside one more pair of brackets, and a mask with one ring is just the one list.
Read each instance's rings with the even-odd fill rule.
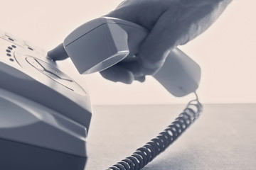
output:
[[64,72],[0,32],[0,169],[84,169],[90,96]]

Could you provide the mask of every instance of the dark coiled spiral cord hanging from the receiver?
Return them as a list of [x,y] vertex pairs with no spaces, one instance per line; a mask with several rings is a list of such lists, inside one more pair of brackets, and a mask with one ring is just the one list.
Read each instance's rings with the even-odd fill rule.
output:
[[[195,93],[196,94],[196,93]],[[158,136],[139,147],[131,156],[107,170],[140,170],[171,145],[200,115],[203,106],[196,99],[190,101],[181,114]]]

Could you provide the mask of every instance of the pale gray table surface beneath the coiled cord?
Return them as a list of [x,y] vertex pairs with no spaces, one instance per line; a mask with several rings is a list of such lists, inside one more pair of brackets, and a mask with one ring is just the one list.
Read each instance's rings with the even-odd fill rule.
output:
[[[103,170],[164,130],[186,105],[94,106],[86,170]],[[206,104],[144,170],[256,169],[256,104]]]

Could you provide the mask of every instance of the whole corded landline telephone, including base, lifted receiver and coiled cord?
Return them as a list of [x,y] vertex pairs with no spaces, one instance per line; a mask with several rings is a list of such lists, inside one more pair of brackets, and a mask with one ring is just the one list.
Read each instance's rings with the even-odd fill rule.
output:
[[[69,56],[80,74],[99,72],[136,60],[147,34],[135,23],[101,17],[74,30],[47,54],[0,33],[0,169],[84,169],[90,96],[64,73],[68,69],[60,70],[55,55]],[[196,91],[200,75],[198,64],[175,49],[153,77],[174,96],[185,96]],[[191,101],[156,139],[110,169],[142,169],[200,112],[198,100]]]

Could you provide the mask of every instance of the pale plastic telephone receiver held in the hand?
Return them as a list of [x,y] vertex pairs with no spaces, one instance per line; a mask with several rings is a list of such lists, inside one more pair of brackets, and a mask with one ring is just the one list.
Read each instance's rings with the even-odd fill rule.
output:
[[[53,60],[56,54],[61,54],[63,59],[70,57],[80,74],[91,74],[118,62],[137,60],[134,56],[148,34],[146,28],[136,23],[104,16],[73,30],[63,44],[48,52],[48,56]],[[201,69],[175,48],[153,77],[171,94],[181,97],[198,89]]]

